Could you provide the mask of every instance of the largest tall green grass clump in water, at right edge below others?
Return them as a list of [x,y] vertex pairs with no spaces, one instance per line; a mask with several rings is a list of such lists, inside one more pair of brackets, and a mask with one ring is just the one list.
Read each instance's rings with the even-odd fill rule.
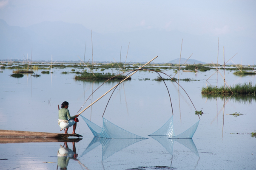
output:
[[[230,86],[233,95],[256,95],[256,85],[252,85],[251,82],[244,84],[236,84],[234,86]],[[202,88],[203,95],[231,95],[232,92],[229,88],[224,88],[224,86],[216,87],[216,86],[208,86]]]

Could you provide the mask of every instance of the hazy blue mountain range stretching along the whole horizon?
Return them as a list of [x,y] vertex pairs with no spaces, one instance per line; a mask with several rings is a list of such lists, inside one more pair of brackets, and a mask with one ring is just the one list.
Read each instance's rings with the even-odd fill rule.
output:
[[[216,63],[217,36],[152,28],[108,34],[92,30],[91,39],[91,30],[80,24],[45,21],[28,27],[18,27],[10,26],[0,19],[0,59],[25,59],[24,56],[31,59],[33,48],[32,61],[48,61],[51,60],[51,55],[54,61],[77,61],[83,60],[85,55],[85,61],[91,62],[93,54],[94,61],[119,62],[121,52],[122,62],[125,62],[127,55],[126,62],[142,63],[158,56],[154,63],[166,63],[179,58],[182,39],[183,57],[188,58],[193,53],[193,59]],[[256,41],[253,38],[241,40],[222,36],[219,39],[219,47],[225,45],[225,56],[233,56],[235,53],[251,56],[254,53],[252,50],[255,50]],[[189,62],[203,63],[196,60]]]

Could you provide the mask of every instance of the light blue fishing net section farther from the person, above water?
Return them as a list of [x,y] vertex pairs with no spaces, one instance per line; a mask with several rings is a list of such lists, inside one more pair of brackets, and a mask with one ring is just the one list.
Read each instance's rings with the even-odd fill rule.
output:
[[196,132],[199,121],[183,133],[175,136],[173,116],[157,131],[148,136],[169,136],[172,139],[191,139]]

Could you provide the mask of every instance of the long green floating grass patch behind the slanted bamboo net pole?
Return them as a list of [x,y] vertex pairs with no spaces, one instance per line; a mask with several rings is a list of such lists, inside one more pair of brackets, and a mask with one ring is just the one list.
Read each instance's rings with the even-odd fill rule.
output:
[[[99,73],[96,72],[94,73],[94,75],[91,72],[82,72],[81,75],[76,75],[75,80],[107,80],[110,79],[111,80],[122,80],[123,78],[126,78],[126,76],[123,75],[115,75],[114,73]],[[129,77],[127,80],[131,80],[131,78]]]

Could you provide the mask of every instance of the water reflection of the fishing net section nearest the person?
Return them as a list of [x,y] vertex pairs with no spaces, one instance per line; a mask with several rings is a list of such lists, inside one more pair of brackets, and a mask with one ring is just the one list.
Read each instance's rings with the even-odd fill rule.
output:
[[102,161],[103,161],[107,159],[109,156],[118,152],[119,150],[122,150],[123,148],[126,148],[129,145],[132,145],[142,140],[145,140],[145,139],[107,139],[107,138],[101,138],[101,137],[94,137],[81,156],[90,152],[94,148],[97,148],[97,146],[101,144]]

